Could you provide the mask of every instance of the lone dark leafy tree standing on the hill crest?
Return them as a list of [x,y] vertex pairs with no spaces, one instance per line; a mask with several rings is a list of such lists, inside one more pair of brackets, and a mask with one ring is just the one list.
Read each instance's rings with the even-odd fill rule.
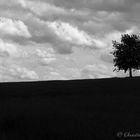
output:
[[114,71],[129,71],[129,77],[132,77],[132,70],[140,69],[140,37],[132,34],[121,36],[121,42],[112,41],[114,51]]

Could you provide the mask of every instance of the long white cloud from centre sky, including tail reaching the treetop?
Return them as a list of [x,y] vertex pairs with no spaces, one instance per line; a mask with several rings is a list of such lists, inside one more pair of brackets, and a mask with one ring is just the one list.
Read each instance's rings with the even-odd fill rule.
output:
[[68,41],[74,45],[90,46],[100,49],[107,47],[107,43],[112,42],[111,39],[118,39],[121,34],[116,31],[107,35],[106,38],[100,38],[95,35],[90,35],[70,23],[62,21],[47,22],[47,25],[61,40]]

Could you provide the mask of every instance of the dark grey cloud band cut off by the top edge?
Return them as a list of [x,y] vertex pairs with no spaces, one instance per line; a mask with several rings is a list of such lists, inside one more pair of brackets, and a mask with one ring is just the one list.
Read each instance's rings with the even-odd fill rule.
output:
[[[44,1],[44,0],[43,0]],[[126,0],[127,1],[127,0]],[[97,11],[128,11],[131,9],[125,0],[54,0],[57,6]],[[135,1],[137,2],[137,1]]]

